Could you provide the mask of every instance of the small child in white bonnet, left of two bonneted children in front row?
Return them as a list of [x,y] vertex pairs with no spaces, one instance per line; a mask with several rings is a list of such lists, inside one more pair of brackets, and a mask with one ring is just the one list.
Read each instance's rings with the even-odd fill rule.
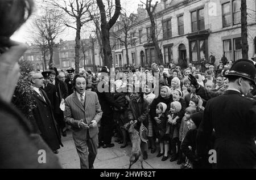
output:
[[168,139],[166,138],[167,134],[167,116],[165,114],[167,105],[163,102],[160,102],[156,106],[156,114],[158,115],[159,121],[156,121],[156,137],[159,139],[160,151],[156,157],[161,157],[162,161],[166,161],[168,158]]

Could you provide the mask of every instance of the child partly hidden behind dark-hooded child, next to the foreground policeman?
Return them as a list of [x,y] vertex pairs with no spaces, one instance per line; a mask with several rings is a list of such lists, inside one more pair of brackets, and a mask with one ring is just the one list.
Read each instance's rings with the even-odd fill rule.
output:
[[[188,123],[187,122],[189,121],[191,114],[194,114],[196,112],[197,112],[196,108],[192,108],[192,107],[188,107],[185,110],[185,115],[182,118],[181,125],[180,125],[180,132],[179,132],[179,138],[180,138],[181,143],[182,143],[183,139],[185,138],[185,135],[188,132]],[[189,168],[190,164],[191,164],[191,162],[189,162],[188,158],[186,158],[185,164],[183,164],[180,168],[187,169],[187,168]]]

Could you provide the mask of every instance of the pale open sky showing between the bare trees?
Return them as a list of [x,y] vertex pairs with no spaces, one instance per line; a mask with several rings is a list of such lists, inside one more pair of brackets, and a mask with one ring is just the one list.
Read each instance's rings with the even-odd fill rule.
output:
[[[142,0],[142,2],[146,2],[146,0]],[[154,1],[153,1],[154,2]],[[34,12],[34,16],[40,14],[40,5],[42,5],[42,0],[35,0],[36,8]],[[138,4],[141,4],[141,0],[121,0],[121,7],[125,8],[127,12],[137,12]],[[143,6],[145,7],[145,6]],[[11,37],[11,39],[19,42],[31,42],[31,36],[30,36],[30,24],[32,22],[32,18],[28,19],[28,21],[22,25],[18,31],[14,33],[14,35]],[[59,37],[63,40],[75,40],[75,30],[71,28],[66,28],[65,32]]]

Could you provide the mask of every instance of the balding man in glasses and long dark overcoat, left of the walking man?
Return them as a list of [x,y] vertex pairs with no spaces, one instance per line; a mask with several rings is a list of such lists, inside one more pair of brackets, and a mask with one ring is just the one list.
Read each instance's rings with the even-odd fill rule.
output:
[[43,75],[35,73],[32,75],[31,97],[36,103],[36,108],[32,110],[34,121],[32,124],[36,132],[42,136],[44,141],[49,145],[54,153],[58,153],[57,149],[60,145],[63,146],[60,140],[59,128],[53,116],[51,102],[49,101],[46,92],[40,87],[43,85]]

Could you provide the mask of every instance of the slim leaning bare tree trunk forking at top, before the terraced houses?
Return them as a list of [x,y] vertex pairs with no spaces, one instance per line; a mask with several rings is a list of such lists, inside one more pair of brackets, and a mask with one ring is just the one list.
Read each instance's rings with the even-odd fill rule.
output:
[[143,3],[143,4],[146,5],[147,14],[148,14],[148,16],[150,18],[150,22],[151,22],[151,38],[155,45],[155,52],[156,52],[156,57],[157,57],[156,63],[160,63],[163,65],[163,54],[160,50],[158,40],[156,38],[156,24],[155,24],[155,18],[154,18],[155,8],[158,5],[158,1],[155,3],[154,6],[151,5],[151,3],[152,3],[152,0],[147,0],[146,4],[145,3]]

